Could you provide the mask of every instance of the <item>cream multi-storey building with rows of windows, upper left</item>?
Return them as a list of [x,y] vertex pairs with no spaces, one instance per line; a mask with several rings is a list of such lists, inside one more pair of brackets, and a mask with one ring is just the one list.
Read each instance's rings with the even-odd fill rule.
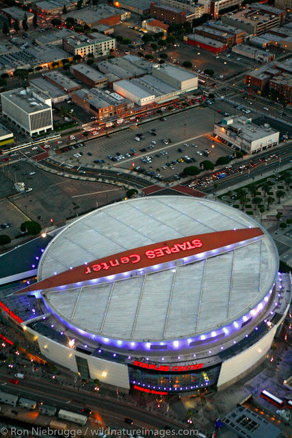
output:
[[63,48],[71,55],[86,57],[92,54],[94,57],[109,55],[116,49],[116,38],[111,38],[97,32],[88,35],[78,35],[64,38]]

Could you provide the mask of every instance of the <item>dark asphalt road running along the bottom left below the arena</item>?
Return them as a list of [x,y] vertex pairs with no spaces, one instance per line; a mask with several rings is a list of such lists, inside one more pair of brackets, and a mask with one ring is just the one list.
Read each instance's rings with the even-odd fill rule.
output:
[[[178,428],[185,428],[185,426],[178,426],[172,420],[152,415],[152,413],[145,409],[129,406],[128,404],[118,402],[118,400],[112,400],[96,394],[83,393],[70,387],[59,386],[57,383],[51,383],[51,381],[45,379],[35,380],[28,377],[20,381],[18,385],[13,385],[12,383],[7,383],[7,374],[5,370],[1,370],[0,382],[0,387],[3,391],[29,397],[30,400],[35,400],[37,403],[44,402],[57,408],[67,409],[68,411],[70,411],[71,406],[73,411],[77,411],[87,404],[93,411],[88,425],[95,428],[96,424],[111,428],[117,426],[120,428],[124,427],[128,430],[135,428],[163,429],[165,425],[174,426],[176,430]],[[2,383],[7,384],[3,386]],[[134,424],[132,427],[123,422],[124,417],[130,417],[133,420]]]

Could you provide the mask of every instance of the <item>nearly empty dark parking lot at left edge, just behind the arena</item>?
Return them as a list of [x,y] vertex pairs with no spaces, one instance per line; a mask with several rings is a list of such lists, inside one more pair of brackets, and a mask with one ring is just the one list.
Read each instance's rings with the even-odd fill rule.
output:
[[[24,182],[25,189],[32,190],[15,194],[13,182],[0,173],[1,197],[14,193],[10,201],[1,201],[5,201],[5,205],[1,204],[0,207],[0,220],[14,224],[12,235],[17,234],[16,229],[25,220],[25,215],[38,220],[42,227],[49,227],[51,218],[53,223],[61,222],[125,196],[125,191],[114,185],[59,177],[26,162],[18,162],[18,168],[15,166],[5,166],[5,175],[10,176],[12,181],[16,178],[18,182]],[[29,175],[29,172],[34,174]],[[15,207],[6,209],[12,203]],[[16,214],[20,215],[19,218]]]

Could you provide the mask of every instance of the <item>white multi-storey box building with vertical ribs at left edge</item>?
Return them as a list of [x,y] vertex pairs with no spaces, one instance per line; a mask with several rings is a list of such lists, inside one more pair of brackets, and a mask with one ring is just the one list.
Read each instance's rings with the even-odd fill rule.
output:
[[52,101],[39,90],[16,88],[1,93],[3,116],[32,136],[53,129]]

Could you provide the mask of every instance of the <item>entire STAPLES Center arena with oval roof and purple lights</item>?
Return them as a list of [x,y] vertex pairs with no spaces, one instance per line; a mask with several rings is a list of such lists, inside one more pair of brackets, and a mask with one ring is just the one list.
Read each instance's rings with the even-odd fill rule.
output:
[[265,359],[280,331],[291,287],[278,264],[270,235],[242,211],[136,198],[58,231],[37,281],[13,294],[8,284],[0,309],[82,378],[152,394],[224,389]]

